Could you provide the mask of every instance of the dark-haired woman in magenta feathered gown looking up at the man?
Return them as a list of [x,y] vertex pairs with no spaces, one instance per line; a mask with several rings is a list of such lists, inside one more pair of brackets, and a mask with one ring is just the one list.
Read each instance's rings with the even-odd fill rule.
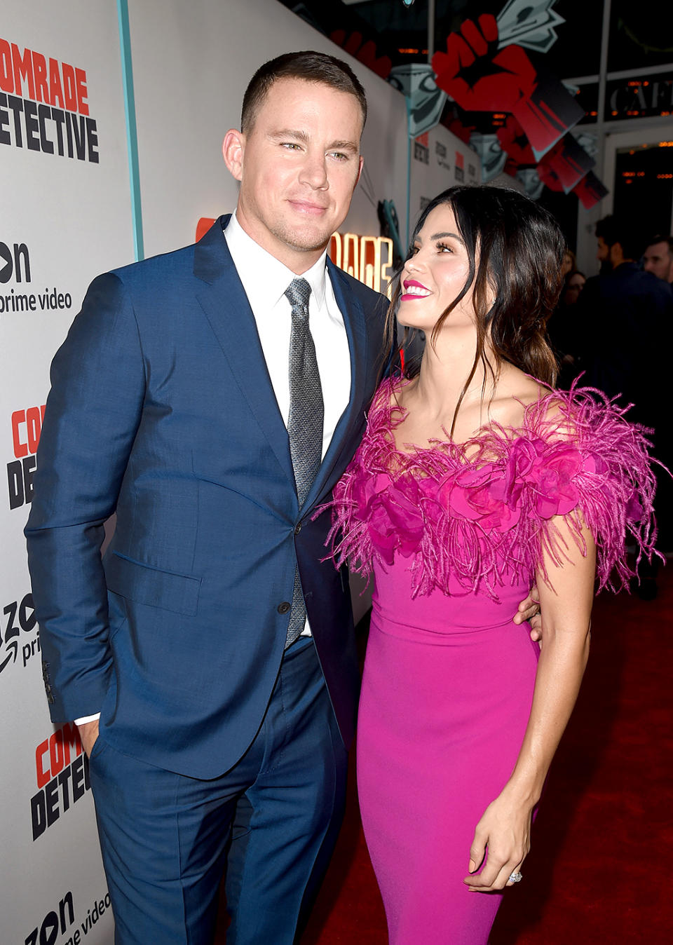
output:
[[[651,553],[642,431],[550,390],[562,249],[515,191],[429,204],[389,324],[425,332],[420,371],[381,384],[335,490],[335,558],[375,576],[357,764],[391,945],[487,941],[578,695],[596,552],[601,587],[627,529]],[[511,623],[532,578],[542,652]]]

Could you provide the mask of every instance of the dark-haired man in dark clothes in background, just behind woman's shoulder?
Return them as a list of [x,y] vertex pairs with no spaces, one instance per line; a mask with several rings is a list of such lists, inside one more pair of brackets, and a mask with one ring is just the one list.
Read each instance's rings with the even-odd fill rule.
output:
[[[663,280],[635,262],[641,247],[624,220],[606,216],[596,224],[595,235],[601,275],[587,281],[577,303],[578,324],[585,332],[584,381],[618,396],[624,406],[632,404],[629,419],[654,429],[656,455],[669,465],[667,358],[673,296]],[[657,472],[658,546],[664,548],[670,547],[670,479]],[[644,562],[639,576],[639,595],[653,599],[656,567]]]

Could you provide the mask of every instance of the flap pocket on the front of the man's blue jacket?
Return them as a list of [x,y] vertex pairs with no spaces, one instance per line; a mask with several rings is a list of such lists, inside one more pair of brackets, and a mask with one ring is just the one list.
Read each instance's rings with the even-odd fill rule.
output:
[[113,551],[105,560],[108,589],[137,604],[195,616],[198,609],[200,577],[177,575],[134,561]]

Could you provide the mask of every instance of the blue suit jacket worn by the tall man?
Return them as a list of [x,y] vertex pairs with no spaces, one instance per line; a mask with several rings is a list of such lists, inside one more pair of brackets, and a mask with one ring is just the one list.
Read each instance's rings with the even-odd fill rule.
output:
[[195,246],[91,284],[52,365],[26,526],[53,720],[102,709],[114,747],[201,778],[231,767],[261,723],[297,562],[336,719],[352,738],[348,577],[320,561],[329,513],[311,516],[362,435],[382,337],[382,297],[328,261],[351,400],[300,515],[226,219]]

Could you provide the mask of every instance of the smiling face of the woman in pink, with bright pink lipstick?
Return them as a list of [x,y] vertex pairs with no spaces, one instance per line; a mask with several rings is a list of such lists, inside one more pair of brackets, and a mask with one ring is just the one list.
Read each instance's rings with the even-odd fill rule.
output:
[[[402,325],[431,332],[437,319],[457,298],[470,272],[467,249],[448,203],[427,216],[414,240],[413,253],[402,273],[397,318]],[[445,327],[475,323],[473,286],[461,299]]]

